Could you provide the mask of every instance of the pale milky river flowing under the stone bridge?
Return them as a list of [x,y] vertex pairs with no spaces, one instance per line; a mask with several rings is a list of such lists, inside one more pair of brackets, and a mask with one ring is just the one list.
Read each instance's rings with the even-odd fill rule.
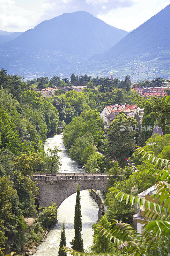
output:
[[[70,158],[69,150],[67,150],[62,142],[63,134],[57,134],[51,138],[48,138],[44,144],[44,150],[59,147],[62,152],[59,152],[59,156],[62,158],[62,165],[60,172],[85,172],[85,169],[78,168],[78,163]],[[69,173],[68,172],[68,173]],[[64,172],[65,173],[65,172]],[[81,196],[81,211],[82,211],[82,238],[84,240],[84,248],[92,244],[92,224],[98,219],[99,207],[95,200],[89,195],[88,190],[80,191]],[[57,255],[59,250],[61,228],[63,221],[65,221],[65,233],[67,246],[70,246],[70,242],[74,239],[74,211],[76,203],[76,194],[69,196],[58,208],[57,217],[58,222],[50,230],[47,239],[38,246],[35,256],[51,256]]]

